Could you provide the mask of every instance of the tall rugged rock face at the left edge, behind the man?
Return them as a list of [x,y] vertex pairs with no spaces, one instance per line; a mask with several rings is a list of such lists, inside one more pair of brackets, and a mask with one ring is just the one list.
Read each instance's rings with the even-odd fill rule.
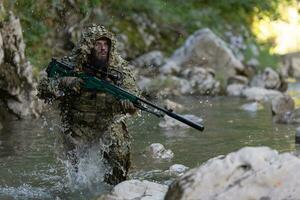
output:
[[0,23],[0,109],[17,118],[38,116],[41,103],[35,97],[32,66],[25,58],[20,20],[10,13]]

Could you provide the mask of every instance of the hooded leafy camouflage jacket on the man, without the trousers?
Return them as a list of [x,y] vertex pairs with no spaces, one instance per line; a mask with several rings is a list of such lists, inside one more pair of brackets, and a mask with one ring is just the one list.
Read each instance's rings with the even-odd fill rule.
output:
[[[84,63],[87,63],[95,41],[101,37],[111,40],[108,68],[122,72],[123,81],[120,87],[137,95],[133,72],[127,62],[116,52],[116,40],[113,34],[103,26],[93,25],[83,31],[78,45],[62,60],[74,66],[76,71],[81,71]],[[38,96],[46,102],[58,101],[63,122],[67,124],[106,127],[116,115],[126,113],[121,103],[109,94],[95,91],[82,91],[80,95],[72,94],[66,92],[66,88],[60,85],[59,79],[43,78],[38,86]]]

